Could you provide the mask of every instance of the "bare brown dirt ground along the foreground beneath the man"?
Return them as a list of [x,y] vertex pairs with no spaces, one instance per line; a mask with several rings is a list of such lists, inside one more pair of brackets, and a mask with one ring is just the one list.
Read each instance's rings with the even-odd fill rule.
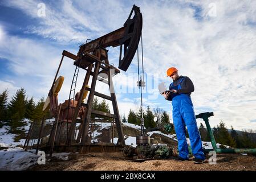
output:
[[256,156],[241,154],[217,154],[217,164],[194,164],[192,159],[178,162],[169,159],[153,159],[131,162],[122,153],[71,154],[69,160],[52,158],[45,165],[36,165],[29,170],[72,170],[72,171],[226,171],[256,170]]

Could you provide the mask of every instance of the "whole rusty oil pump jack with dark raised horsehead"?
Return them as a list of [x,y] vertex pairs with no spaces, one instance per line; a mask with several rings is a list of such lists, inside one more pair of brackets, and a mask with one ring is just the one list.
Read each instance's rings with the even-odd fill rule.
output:
[[[129,14],[129,17],[124,23],[123,27],[103,35],[100,38],[91,40],[91,42],[82,44],[79,47],[79,52],[77,55],[65,50],[62,52],[62,59],[60,60],[58,70],[43,108],[43,110],[50,110],[51,117],[55,118],[50,139],[48,140],[48,147],[51,147],[50,154],[54,148],[54,145],[77,145],[80,146],[80,152],[86,150],[83,149],[83,146],[88,146],[91,144],[91,137],[88,134],[91,114],[114,119],[118,134],[117,145],[125,145],[116,96],[115,92],[113,92],[112,76],[120,73],[119,69],[127,71],[129,65],[131,64],[140,42],[142,21],[140,8],[133,5],[131,13]],[[106,48],[110,46],[120,46],[119,69],[109,64],[108,50]],[[59,69],[62,65],[64,56],[74,60],[76,69],[71,84],[69,99],[62,104],[58,104],[58,92],[62,86],[64,77],[60,76],[58,79],[56,78],[58,77]],[[75,95],[76,79],[80,68],[86,70],[87,72],[80,92],[76,93]],[[92,71],[93,68],[94,71]],[[107,74],[108,79],[105,80],[101,78],[100,73]],[[89,86],[88,81],[90,76],[92,76],[92,82]],[[109,90],[112,90],[111,96],[95,92],[96,81],[103,81],[107,83]],[[88,100],[85,104],[83,103],[83,100],[86,98],[88,92]],[[114,114],[104,113],[103,111],[92,109],[94,96],[112,101]],[[44,119],[42,119],[41,126],[43,126],[43,122]],[[81,123],[78,134],[76,133],[76,123]],[[39,136],[39,140],[40,138],[41,136]]]

